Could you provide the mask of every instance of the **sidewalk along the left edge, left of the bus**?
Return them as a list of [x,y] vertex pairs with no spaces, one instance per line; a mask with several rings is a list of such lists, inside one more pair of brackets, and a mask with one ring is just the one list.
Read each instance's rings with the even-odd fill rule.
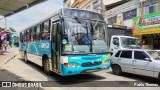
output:
[[[22,77],[15,75],[14,73],[7,70],[5,63],[12,60],[19,54],[19,48],[13,47],[3,55],[0,55],[0,81],[25,81]],[[16,65],[16,63],[15,63]],[[14,67],[13,67],[14,68]],[[0,83],[1,84],[1,83]],[[0,85],[1,86],[1,85]],[[0,87],[0,90],[42,90],[41,88],[4,88]]]

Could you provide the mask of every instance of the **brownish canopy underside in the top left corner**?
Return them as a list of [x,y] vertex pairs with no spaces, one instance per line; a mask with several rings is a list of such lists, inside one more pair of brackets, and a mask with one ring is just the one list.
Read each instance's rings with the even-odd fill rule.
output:
[[0,15],[7,17],[46,0],[0,0]]

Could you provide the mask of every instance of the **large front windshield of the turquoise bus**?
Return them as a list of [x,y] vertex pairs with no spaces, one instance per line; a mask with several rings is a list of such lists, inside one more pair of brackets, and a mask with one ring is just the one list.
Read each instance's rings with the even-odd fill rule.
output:
[[105,53],[105,23],[65,18],[65,35],[62,38],[62,51],[68,54]]

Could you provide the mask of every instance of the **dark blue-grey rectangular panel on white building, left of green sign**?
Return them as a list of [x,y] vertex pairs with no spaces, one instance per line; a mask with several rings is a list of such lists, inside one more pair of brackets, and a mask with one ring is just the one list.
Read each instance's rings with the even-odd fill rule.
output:
[[132,19],[137,16],[137,9],[133,9],[123,13],[123,20]]

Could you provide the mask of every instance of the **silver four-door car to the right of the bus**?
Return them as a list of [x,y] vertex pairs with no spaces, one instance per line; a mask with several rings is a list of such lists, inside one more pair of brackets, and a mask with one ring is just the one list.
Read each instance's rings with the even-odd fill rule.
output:
[[113,74],[128,72],[160,80],[160,53],[155,50],[124,49],[111,56]]

